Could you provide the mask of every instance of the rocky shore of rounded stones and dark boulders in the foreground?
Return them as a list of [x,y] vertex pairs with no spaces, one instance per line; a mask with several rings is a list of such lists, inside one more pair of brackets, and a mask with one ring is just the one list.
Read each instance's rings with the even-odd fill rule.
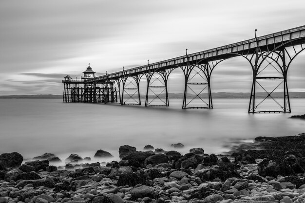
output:
[[61,161],[52,153],[24,164],[3,153],[0,203],[305,203],[304,146],[305,134],[256,137],[226,155],[124,145],[119,162],[78,164],[90,157],[71,154],[65,167],[52,166]]

